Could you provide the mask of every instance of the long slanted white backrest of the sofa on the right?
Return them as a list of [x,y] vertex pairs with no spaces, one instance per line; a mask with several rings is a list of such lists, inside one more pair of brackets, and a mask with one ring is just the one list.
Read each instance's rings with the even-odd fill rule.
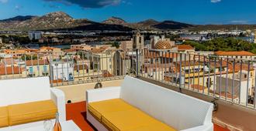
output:
[[120,98],[178,130],[212,123],[212,103],[130,76],[125,77]]

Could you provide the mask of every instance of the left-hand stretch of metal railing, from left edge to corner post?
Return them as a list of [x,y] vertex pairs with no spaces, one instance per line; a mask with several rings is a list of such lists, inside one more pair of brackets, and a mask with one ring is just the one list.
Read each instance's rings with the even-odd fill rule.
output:
[[0,57],[0,79],[49,76],[51,86],[123,79],[135,76],[135,58],[119,50],[8,54]]

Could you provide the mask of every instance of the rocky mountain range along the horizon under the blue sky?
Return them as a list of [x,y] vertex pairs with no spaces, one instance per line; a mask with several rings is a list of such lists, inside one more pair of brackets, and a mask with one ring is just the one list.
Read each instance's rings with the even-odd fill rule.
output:
[[16,16],[0,20],[0,30],[207,30],[207,29],[256,29],[256,25],[192,25],[182,22],[147,19],[143,22],[130,23],[122,18],[111,17],[103,22],[93,22],[86,18],[75,19],[64,12],[52,12],[43,16]]

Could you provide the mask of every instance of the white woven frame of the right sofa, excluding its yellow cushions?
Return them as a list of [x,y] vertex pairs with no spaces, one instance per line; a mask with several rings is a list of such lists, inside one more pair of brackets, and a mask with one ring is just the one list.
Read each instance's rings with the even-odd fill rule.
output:
[[[92,89],[86,93],[87,103],[120,98],[177,130],[213,131],[212,103],[130,76],[125,77],[120,87]],[[108,130],[88,112],[87,119],[99,131]]]

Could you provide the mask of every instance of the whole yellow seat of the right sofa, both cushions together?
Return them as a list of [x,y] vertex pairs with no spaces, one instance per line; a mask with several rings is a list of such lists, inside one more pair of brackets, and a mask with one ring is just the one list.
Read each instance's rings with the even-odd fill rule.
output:
[[88,103],[88,112],[113,131],[174,131],[175,129],[131,106],[123,99]]

